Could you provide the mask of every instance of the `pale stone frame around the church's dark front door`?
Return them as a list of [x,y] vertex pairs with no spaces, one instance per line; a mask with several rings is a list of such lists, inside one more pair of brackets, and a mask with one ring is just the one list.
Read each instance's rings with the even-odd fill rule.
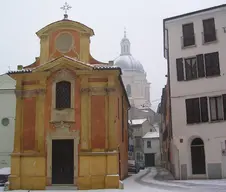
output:
[[52,185],[52,140],[74,140],[74,185],[77,184],[78,178],[78,144],[79,131],[70,131],[69,128],[56,128],[54,132],[47,135],[47,186]]

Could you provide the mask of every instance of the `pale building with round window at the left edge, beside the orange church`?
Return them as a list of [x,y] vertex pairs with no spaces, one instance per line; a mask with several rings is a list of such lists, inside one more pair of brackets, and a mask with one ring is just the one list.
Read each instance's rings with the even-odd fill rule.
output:
[[0,75],[0,168],[10,167],[13,150],[16,82],[8,75]]

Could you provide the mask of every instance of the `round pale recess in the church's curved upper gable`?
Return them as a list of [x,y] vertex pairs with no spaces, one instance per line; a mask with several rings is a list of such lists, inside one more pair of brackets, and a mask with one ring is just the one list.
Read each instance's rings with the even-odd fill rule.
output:
[[73,45],[73,37],[70,33],[61,33],[56,38],[56,49],[61,53],[67,53]]

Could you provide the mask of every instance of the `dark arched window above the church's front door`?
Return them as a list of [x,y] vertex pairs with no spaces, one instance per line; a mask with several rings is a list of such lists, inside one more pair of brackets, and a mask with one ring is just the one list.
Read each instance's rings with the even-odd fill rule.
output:
[[71,108],[71,83],[60,81],[56,83],[56,109]]

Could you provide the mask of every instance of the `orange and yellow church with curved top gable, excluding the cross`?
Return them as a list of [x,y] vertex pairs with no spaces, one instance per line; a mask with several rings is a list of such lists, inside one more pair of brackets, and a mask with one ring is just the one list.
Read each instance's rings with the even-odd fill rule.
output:
[[89,27],[64,18],[37,32],[40,56],[16,80],[11,190],[119,188],[128,172],[121,69],[90,54]]

